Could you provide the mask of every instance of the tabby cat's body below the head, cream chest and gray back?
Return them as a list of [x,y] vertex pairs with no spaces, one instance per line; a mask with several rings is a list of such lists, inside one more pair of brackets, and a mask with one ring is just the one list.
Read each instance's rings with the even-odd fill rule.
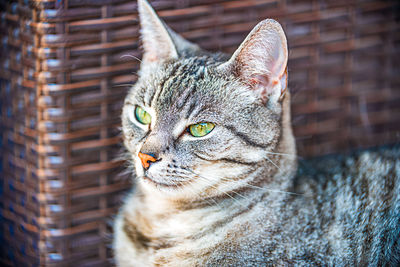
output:
[[[160,209],[137,225],[138,214],[147,212],[135,209],[144,206],[136,196],[125,205],[132,221],[120,226],[128,242],[120,250],[127,252],[126,266],[397,266],[399,158],[397,147],[303,162],[291,188],[297,194],[267,191],[249,210],[233,209],[229,202],[236,203],[228,198],[219,205],[229,212],[213,214],[209,205]],[[147,236],[135,241],[144,246],[136,252],[142,257],[129,251],[135,231]]]

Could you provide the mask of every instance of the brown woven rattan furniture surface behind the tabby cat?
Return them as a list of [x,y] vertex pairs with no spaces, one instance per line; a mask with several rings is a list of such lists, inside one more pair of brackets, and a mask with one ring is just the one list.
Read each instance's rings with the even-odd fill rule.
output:
[[[396,1],[164,0],[163,19],[205,49],[233,52],[253,26],[286,30],[299,154],[396,143]],[[121,172],[120,110],[141,57],[131,0],[0,1],[1,259],[109,266]]]

